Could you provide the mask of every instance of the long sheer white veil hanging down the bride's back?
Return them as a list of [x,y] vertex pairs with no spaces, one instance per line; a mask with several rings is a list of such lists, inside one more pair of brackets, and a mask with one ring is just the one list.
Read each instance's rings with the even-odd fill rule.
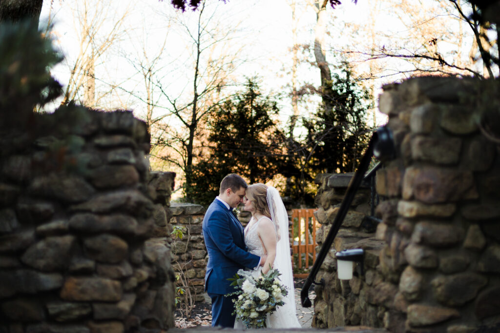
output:
[[291,270],[290,240],[288,238],[288,214],[279,192],[274,187],[267,187],[266,198],[277,238],[276,258],[274,259],[273,268],[276,268],[281,273],[279,279],[288,290],[288,295],[283,300],[284,305],[276,310],[277,316],[271,316],[271,318],[281,322],[277,327],[300,327],[295,313],[295,292]]

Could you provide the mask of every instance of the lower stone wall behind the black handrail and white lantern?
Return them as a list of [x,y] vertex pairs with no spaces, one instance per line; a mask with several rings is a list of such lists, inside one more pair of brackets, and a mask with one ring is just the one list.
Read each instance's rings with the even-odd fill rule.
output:
[[[352,174],[320,174],[315,179],[318,184],[315,202],[319,206],[315,216],[321,224],[316,232],[319,248],[331,228],[351,177]],[[313,327],[381,326],[377,310],[367,303],[369,296],[366,295],[371,289],[368,277],[373,280],[377,274],[378,253],[384,245],[374,238],[376,223],[367,218],[371,213],[370,201],[369,184],[362,182],[317,275],[317,282],[324,279],[324,287],[315,288]],[[335,252],[357,248],[365,250],[364,275],[360,276],[360,271],[356,271],[351,280],[338,280]],[[370,282],[370,286],[361,290],[364,277]]]

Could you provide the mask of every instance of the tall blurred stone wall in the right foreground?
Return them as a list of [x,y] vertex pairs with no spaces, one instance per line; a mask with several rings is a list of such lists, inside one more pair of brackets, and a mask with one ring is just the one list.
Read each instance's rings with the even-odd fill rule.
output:
[[376,176],[383,247],[360,278],[322,272],[335,288],[315,302],[316,325],[354,325],[357,313],[391,332],[500,329],[499,146],[477,125],[477,101],[498,105],[498,96],[480,97],[476,84],[425,77],[384,87],[379,109],[397,158]]

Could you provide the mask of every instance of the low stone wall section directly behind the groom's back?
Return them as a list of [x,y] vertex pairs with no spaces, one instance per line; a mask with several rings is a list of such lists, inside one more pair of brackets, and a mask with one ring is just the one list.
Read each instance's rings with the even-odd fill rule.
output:
[[177,284],[187,282],[194,302],[204,301],[202,294],[208,261],[201,229],[204,212],[205,209],[200,205],[188,203],[170,205],[170,225],[182,232],[182,238],[174,237],[172,241],[172,266],[175,273],[181,275]]

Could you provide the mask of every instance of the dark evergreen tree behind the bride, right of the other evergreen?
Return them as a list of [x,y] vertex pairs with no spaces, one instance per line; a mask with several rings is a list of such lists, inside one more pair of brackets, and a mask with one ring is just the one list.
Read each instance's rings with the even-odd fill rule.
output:
[[285,195],[300,205],[312,205],[317,174],[354,171],[371,134],[365,121],[369,93],[352,79],[345,64],[339,69],[332,74],[328,93],[322,91],[331,111],[321,104],[313,117],[302,119],[305,138],[287,141]]

